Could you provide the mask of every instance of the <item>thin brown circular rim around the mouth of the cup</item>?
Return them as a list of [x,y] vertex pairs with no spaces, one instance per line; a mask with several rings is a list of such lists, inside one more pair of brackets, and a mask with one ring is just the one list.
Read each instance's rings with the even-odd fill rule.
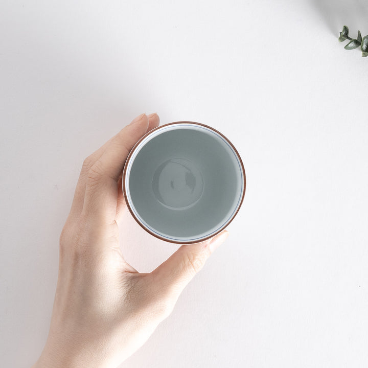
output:
[[218,231],[216,231],[215,234],[212,234],[211,236],[208,236],[208,237],[205,237],[205,238],[202,238],[200,239],[199,241],[197,241],[196,243],[200,243],[204,240],[207,240],[207,239],[211,239],[213,238],[214,236],[216,236],[217,234],[221,233],[222,230],[224,228],[226,228],[235,218],[235,216],[238,214],[240,208],[241,208],[241,205],[243,204],[243,200],[244,200],[244,195],[245,195],[245,188],[246,188],[246,178],[245,178],[245,170],[244,170],[244,165],[243,165],[243,162],[242,162],[242,159],[239,155],[239,152],[237,151],[237,149],[234,147],[234,145],[221,133],[219,132],[218,130],[216,130],[215,128],[209,126],[209,125],[205,125],[205,124],[202,124],[202,123],[196,123],[196,122],[188,122],[188,121],[179,121],[179,122],[173,122],[173,123],[168,123],[168,124],[164,124],[164,125],[161,125],[161,126],[158,126],[157,128],[154,128],[152,130],[150,130],[149,132],[147,132],[135,145],[134,147],[132,148],[132,150],[129,152],[129,155],[126,159],[126,162],[125,162],[125,165],[124,165],[124,170],[123,170],[123,177],[122,177],[122,185],[123,185],[123,194],[124,194],[124,199],[125,199],[125,203],[127,204],[127,207],[128,207],[128,210],[129,212],[131,213],[131,215],[133,216],[134,220],[142,227],[145,229],[145,231],[151,235],[153,235],[155,238],[158,238],[160,240],[164,240],[164,241],[167,241],[169,243],[175,243],[175,244],[193,244],[193,241],[176,241],[176,240],[171,240],[171,239],[167,239],[167,238],[164,238],[162,236],[159,236],[155,233],[153,233],[152,231],[150,231],[149,228],[147,228],[134,214],[134,212],[132,211],[131,207],[130,207],[130,204],[127,200],[127,195],[126,195],[126,188],[125,188],[125,175],[126,175],[126,169],[127,169],[127,166],[128,166],[128,163],[129,163],[129,160],[132,156],[132,154],[134,153],[135,149],[137,148],[137,146],[150,134],[152,134],[154,131],[156,130],[159,130],[159,129],[162,129],[163,127],[166,127],[168,125],[174,125],[174,124],[193,124],[193,125],[201,125],[201,126],[204,126],[206,128],[209,128],[210,130],[213,130],[214,132],[216,132],[217,134],[221,135],[225,140],[226,142],[232,146],[232,148],[234,149],[235,153],[237,154],[238,158],[239,158],[239,162],[240,162],[240,165],[241,165],[241,168],[242,168],[242,171],[243,171],[243,176],[244,176],[244,191],[243,191],[243,195],[242,195],[242,198],[240,200],[240,204],[239,204],[239,207],[237,209],[237,211],[235,212],[235,214],[233,215],[233,217],[231,218],[231,220],[223,227],[221,227]]

